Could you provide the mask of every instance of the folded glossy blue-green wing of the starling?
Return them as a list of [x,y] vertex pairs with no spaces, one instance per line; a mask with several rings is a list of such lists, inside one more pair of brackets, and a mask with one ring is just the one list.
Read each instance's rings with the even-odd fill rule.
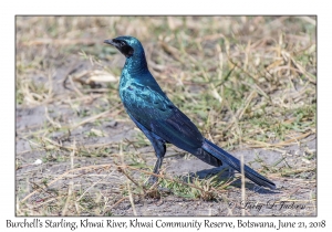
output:
[[204,137],[193,122],[160,92],[137,83],[123,91],[127,113],[167,143],[194,152]]

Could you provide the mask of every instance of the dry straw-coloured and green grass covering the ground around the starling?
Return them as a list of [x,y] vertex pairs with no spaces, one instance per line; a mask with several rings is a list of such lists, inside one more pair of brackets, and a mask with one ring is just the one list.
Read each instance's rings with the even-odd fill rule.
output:
[[[315,149],[307,147],[317,133],[315,18],[18,17],[17,215],[157,214],[152,201],[169,197],[225,204],[217,215],[252,213],[228,207],[241,194],[235,181],[188,183],[164,170],[170,192],[144,184],[154,152],[118,98],[124,57],[102,42],[122,34],[142,41],[153,75],[208,139],[281,154],[255,162],[284,187],[277,202],[305,202],[304,214],[315,214]],[[168,160],[188,158],[168,150]]]

